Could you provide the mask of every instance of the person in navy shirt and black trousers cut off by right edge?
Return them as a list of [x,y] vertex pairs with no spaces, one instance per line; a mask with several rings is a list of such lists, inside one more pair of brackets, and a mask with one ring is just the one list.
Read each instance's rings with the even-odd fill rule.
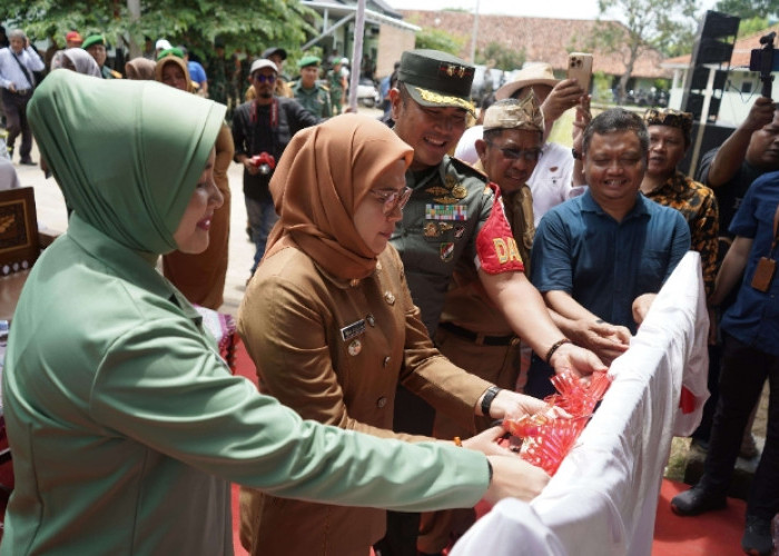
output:
[[721,304],[742,272],[743,279],[720,325],[720,398],[709,450],[700,481],[671,500],[671,508],[682,516],[726,506],[743,430],[768,378],[766,446],[747,500],[741,539],[748,554],[771,554],[771,519],[779,513],[779,278],[773,271],[778,230],[779,172],[771,172],[755,180],[730,225],[736,239],[717,276],[711,304]]

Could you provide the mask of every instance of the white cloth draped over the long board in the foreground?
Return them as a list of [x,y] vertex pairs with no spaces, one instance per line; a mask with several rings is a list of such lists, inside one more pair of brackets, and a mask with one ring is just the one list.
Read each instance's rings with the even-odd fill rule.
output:
[[[510,556],[525,546],[533,555],[651,554],[671,438],[694,428],[708,397],[703,295],[700,255],[690,251],[613,363],[611,388],[544,492],[530,505],[495,506],[452,556]],[[687,415],[678,408],[682,384],[696,394]]]

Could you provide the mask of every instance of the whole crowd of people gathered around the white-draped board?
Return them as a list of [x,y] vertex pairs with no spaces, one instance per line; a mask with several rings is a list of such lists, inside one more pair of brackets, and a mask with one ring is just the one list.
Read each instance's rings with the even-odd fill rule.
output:
[[[30,272],[8,341],[17,483],[0,554],[228,554],[229,483],[241,485],[252,554],[443,554],[481,497],[529,500],[549,480],[496,441],[493,420],[546,410],[554,374],[607,370],[690,249],[720,388],[696,433],[706,473],[672,508],[726,504],[768,378],[742,547],[770,554],[770,99],[703,156],[696,180],[679,169],[691,115],[593,117],[588,91],[549,64],[476,113],[473,66],[405,51],[379,121],[341,115],[348,60],[337,57],[323,73],[302,56],[292,81],[279,47],[236,64],[217,42],[200,64],[160,39],[120,73],[105,37],[71,31],[41,81],[26,34],[9,39],[8,152],[20,136],[20,163],[37,163],[34,135],[71,214]],[[573,149],[549,140],[570,109]],[[231,163],[255,245],[238,331],[259,391],[230,374],[193,308],[223,305]]]

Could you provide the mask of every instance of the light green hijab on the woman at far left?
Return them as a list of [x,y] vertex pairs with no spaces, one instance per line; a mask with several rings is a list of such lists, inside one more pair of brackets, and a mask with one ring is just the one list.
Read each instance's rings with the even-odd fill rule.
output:
[[165,254],[225,107],[151,81],[53,71],[27,107],[68,206],[130,249]]

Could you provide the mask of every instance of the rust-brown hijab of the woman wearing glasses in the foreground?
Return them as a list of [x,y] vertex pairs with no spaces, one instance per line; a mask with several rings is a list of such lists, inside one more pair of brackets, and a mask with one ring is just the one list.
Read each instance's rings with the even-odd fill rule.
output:
[[354,214],[389,165],[413,150],[384,123],[343,115],[298,131],[270,179],[279,221],[266,256],[296,245],[327,272],[365,278],[376,256],[354,226]]

